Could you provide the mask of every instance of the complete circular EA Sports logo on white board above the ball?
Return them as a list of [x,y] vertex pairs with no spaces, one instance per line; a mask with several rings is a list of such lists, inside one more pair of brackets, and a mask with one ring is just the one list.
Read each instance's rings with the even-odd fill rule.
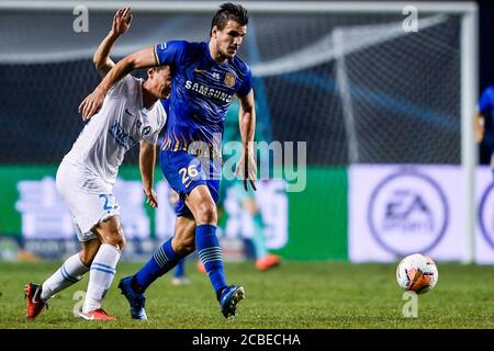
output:
[[405,256],[427,252],[446,233],[448,203],[440,186],[416,171],[394,173],[372,192],[368,223],[388,251]]

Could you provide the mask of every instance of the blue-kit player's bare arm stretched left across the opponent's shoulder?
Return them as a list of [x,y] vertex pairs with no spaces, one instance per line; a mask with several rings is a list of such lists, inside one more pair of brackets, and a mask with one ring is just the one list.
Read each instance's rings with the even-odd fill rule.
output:
[[134,69],[159,66],[156,61],[155,48],[147,47],[121,59],[103,78],[100,84],[79,105],[82,120],[87,121],[100,111],[106,92],[123,77]]

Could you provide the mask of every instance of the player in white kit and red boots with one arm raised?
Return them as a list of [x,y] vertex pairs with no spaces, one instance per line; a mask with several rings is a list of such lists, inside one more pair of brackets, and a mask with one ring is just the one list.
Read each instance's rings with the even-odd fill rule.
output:
[[[104,77],[115,65],[110,50],[132,21],[130,9],[121,9],[112,30],[98,47],[93,61]],[[139,166],[147,203],[157,206],[153,190],[156,143],[167,118],[159,99],[168,98],[169,67],[148,70],[146,81],[125,76],[106,95],[104,103],[82,129],[71,150],[64,157],[56,176],[56,186],[69,206],[80,252],[68,258],[42,285],[25,287],[26,317],[35,318],[46,302],[59,291],[90,272],[88,290],[79,317],[113,320],[101,303],[115,275],[115,267],[125,246],[120,207],[113,195],[119,166],[124,154],[141,143]]]

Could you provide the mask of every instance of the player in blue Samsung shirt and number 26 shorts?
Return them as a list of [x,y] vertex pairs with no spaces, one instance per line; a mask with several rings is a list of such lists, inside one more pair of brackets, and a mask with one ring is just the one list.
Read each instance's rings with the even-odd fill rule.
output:
[[[158,247],[136,274],[124,278],[119,284],[130,302],[134,319],[147,319],[145,290],[195,249],[226,318],[236,314],[237,303],[245,297],[243,286],[226,283],[216,237],[216,202],[222,172],[218,139],[235,94],[240,102],[239,128],[244,145],[236,173],[243,178],[246,190],[248,182],[256,190],[257,169],[251,143],[256,126],[252,76],[249,67],[236,56],[247,33],[247,11],[242,5],[224,3],[213,18],[207,43],[171,41],[131,54],[116,64],[79,106],[87,120],[99,111],[109,89],[130,71],[165,65],[171,68],[171,97],[162,101],[169,105],[165,105],[168,120],[160,160],[166,179],[180,195],[176,207],[178,217],[175,236]],[[198,151],[198,143],[207,146],[206,152],[203,147]]]

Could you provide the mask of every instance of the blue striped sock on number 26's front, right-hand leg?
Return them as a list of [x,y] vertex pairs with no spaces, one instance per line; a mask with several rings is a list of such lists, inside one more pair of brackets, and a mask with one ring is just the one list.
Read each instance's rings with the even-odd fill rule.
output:
[[204,224],[195,227],[195,248],[217,297],[227,285],[215,226]]

